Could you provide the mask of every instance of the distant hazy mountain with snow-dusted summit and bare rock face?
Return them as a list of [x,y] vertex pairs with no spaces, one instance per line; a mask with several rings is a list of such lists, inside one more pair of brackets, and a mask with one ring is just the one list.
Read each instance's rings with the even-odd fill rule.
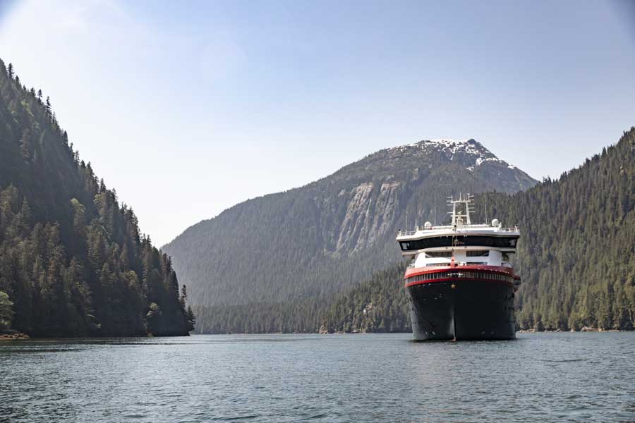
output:
[[444,214],[446,195],[534,184],[475,140],[423,140],[237,204],[163,250],[204,327],[214,312],[201,307],[226,313],[234,305],[328,298],[365,280],[398,259],[394,234],[406,221],[414,226],[416,216],[432,215],[435,202]]

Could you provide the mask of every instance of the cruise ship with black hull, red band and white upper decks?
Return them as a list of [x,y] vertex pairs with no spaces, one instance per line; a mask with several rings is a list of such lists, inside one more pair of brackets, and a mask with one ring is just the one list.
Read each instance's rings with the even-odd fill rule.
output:
[[425,222],[399,231],[401,255],[411,258],[404,275],[414,338],[492,340],[516,338],[514,296],[520,278],[509,258],[517,227],[472,224],[473,195],[449,197],[452,223]]

